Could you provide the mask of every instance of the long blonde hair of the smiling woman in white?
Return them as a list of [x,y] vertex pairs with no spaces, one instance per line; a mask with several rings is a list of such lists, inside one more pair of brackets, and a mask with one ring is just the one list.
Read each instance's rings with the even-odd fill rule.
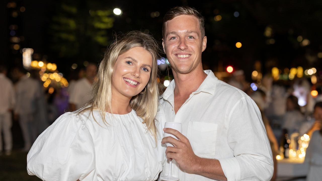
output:
[[[137,116],[143,119],[143,124],[146,124],[147,130],[156,139],[156,127],[154,118],[157,112],[158,105],[158,83],[157,83],[157,58],[159,58],[159,47],[156,40],[149,34],[140,31],[131,31],[123,35],[119,35],[104,54],[103,60],[99,64],[97,79],[94,81],[92,95],[89,100],[79,111],[99,110],[100,116],[105,124],[108,121],[105,119],[105,111],[112,112],[112,73],[114,64],[119,55],[127,52],[133,47],[142,47],[151,53],[152,70],[150,79],[146,85],[146,91],[143,94],[137,94],[130,100],[130,106],[136,111]],[[144,89],[143,89],[144,91]],[[96,120],[95,120],[96,121]]]

